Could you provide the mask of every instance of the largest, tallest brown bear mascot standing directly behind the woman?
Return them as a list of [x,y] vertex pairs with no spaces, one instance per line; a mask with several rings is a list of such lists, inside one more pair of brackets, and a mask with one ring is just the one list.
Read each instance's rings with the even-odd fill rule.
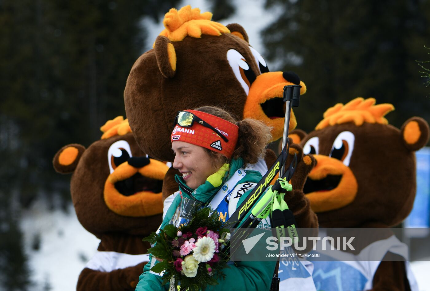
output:
[[[300,84],[301,94],[306,91],[296,74],[269,72],[264,58],[249,45],[242,26],[224,26],[211,19],[212,13],[200,13],[190,6],[171,9],[154,49],[139,57],[127,79],[124,101],[136,141],[144,152],[161,161],[174,159],[170,135],[180,110],[221,106],[238,118],[263,121],[272,127],[276,140],[283,134],[283,87]],[[292,114],[289,127],[295,126]],[[276,160],[273,151],[267,152],[265,163],[255,167],[263,174]],[[308,165],[302,169],[305,173],[298,176],[305,179],[310,169]],[[175,174],[178,170],[171,167],[163,183],[163,198],[178,190]],[[316,226],[315,214],[306,211],[309,204],[303,193],[296,194],[293,210],[304,214],[296,220],[302,226]]]

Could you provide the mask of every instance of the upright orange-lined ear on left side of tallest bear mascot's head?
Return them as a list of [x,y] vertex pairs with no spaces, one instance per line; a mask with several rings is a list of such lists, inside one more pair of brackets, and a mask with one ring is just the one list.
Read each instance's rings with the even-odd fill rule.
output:
[[173,43],[167,37],[159,35],[155,40],[154,49],[161,74],[166,78],[175,76],[176,52]]

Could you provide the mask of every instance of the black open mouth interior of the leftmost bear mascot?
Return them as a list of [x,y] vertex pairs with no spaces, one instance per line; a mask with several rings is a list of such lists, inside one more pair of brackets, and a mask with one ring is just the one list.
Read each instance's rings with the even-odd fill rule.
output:
[[131,196],[142,191],[160,193],[162,188],[163,181],[147,178],[140,173],[115,183],[115,189],[124,196]]

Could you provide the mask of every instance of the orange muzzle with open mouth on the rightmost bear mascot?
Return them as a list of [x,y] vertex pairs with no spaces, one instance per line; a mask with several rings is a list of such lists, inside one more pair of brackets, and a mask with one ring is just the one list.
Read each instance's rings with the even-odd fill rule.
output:
[[344,207],[354,201],[358,183],[342,161],[325,155],[313,155],[316,166],[310,171],[303,192],[315,212]]

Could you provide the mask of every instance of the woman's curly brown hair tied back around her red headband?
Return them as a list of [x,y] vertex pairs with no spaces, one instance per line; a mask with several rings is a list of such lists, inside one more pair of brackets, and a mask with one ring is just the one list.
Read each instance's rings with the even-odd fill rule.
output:
[[[264,157],[266,145],[271,140],[270,127],[252,118],[238,121],[224,109],[215,106],[201,106],[194,110],[215,115],[239,127],[239,137],[232,156],[234,159],[242,158],[244,165],[251,165],[257,163],[258,158]],[[224,155],[220,155],[210,149],[207,149],[207,151],[213,155],[217,163],[224,164],[229,162]]]

